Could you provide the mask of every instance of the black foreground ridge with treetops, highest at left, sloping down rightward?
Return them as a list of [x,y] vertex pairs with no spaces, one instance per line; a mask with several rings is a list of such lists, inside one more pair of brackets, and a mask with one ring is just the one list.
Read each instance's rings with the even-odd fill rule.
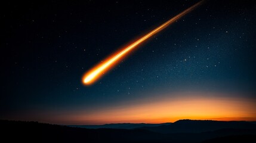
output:
[[[182,121],[184,122],[184,121]],[[178,122],[178,124],[182,122]],[[196,121],[195,123],[204,121]],[[176,122],[175,122],[176,123]],[[193,123],[193,122],[191,122]],[[210,122],[212,123],[212,122]],[[229,122],[223,122],[228,123]],[[235,122],[237,123],[237,122]],[[248,123],[248,122],[245,122]],[[172,125],[172,124],[171,124]],[[198,123],[201,125],[201,123]],[[251,124],[253,125],[253,124]],[[170,125],[165,125],[170,126]],[[177,126],[177,125],[175,125]],[[227,125],[224,125],[227,126]],[[239,123],[238,123],[238,126]],[[38,122],[0,120],[1,139],[6,142],[221,142],[223,139],[256,137],[256,128],[220,129],[207,132],[158,133],[144,129],[85,129]],[[196,127],[198,128],[198,127]],[[245,127],[247,128],[247,126]],[[242,135],[242,137],[241,137]],[[226,136],[226,137],[225,137]],[[224,138],[221,138],[224,137]],[[5,140],[6,139],[6,140]],[[216,140],[214,140],[216,139]],[[249,142],[244,140],[243,142]]]

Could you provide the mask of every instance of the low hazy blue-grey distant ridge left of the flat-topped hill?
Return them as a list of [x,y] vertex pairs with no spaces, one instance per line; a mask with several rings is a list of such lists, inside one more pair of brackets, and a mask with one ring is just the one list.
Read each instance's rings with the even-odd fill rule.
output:
[[105,125],[68,125],[70,127],[87,128],[87,129],[135,129],[143,127],[156,127],[162,125],[171,125],[171,123],[148,124],[148,123],[117,123]]

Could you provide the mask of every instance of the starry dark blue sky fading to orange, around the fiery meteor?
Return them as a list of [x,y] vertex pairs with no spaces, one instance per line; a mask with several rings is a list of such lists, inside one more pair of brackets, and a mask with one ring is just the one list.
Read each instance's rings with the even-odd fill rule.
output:
[[10,1],[0,119],[95,125],[256,120],[256,3],[206,1],[90,86],[83,74],[199,1]]

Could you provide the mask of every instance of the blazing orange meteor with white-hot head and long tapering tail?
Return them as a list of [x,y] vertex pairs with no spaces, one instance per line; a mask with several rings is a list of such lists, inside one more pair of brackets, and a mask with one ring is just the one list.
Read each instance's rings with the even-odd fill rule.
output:
[[[203,0],[204,1],[204,0]],[[85,85],[90,85],[91,83],[95,82],[99,77],[101,77],[107,70],[110,70],[111,67],[113,67],[118,61],[120,61],[122,58],[125,57],[129,52],[132,51],[132,49],[136,48],[138,45],[152,37],[153,35],[156,35],[156,33],[160,32],[161,30],[164,30],[167,26],[174,23],[179,18],[183,17],[190,11],[194,10],[196,7],[202,4],[203,1],[200,1],[193,5],[190,8],[187,8],[187,10],[184,10],[180,14],[176,15],[175,17],[172,17],[170,20],[166,21],[161,26],[156,27],[156,29],[152,30],[151,32],[147,33],[146,35],[142,36],[137,41],[131,43],[130,45],[126,46],[124,49],[122,49],[119,52],[116,52],[109,58],[106,58],[101,63],[99,63],[97,66],[89,70],[87,73],[84,74],[82,77],[82,82]]]

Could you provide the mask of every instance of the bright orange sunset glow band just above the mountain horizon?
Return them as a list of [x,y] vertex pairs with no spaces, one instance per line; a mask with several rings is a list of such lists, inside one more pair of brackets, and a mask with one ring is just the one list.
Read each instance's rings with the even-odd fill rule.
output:
[[[188,94],[188,93],[185,93]],[[68,117],[76,124],[100,125],[104,123],[165,123],[180,119],[196,120],[256,120],[255,100],[228,97],[203,97],[199,93],[179,97],[128,102],[126,105],[99,108],[93,113]],[[208,95],[209,96],[209,95]],[[63,122],[66,122],[63,120]]]

